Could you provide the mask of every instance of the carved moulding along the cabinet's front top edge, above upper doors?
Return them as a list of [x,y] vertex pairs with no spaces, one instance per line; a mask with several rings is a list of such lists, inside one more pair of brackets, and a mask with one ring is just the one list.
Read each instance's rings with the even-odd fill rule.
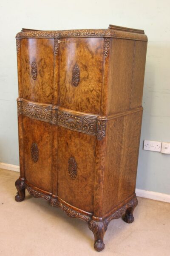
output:
[[112,37],[113,29],[79,29],[79,30],[48,30],[48,31],[22,31],[16,38],[69,38],[69,37]]

